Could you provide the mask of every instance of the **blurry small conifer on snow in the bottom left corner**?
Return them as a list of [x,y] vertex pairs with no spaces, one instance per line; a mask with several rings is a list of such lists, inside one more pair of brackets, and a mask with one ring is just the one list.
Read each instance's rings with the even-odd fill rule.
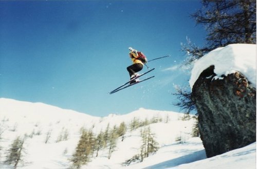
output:
[[25,137],[21,139],[20,137],[17,137],[13,143],[11,144],[11,147],[7,151],[7,156],[6,156],[6,163],[8,165],[13,165],[14,168],[17,168],[17,165],[19,162],[22,161],[22,154],[24,151],[24,141]]

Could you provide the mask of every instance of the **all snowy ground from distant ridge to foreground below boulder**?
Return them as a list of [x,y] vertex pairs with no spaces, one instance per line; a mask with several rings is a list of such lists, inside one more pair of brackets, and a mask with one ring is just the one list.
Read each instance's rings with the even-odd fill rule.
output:
[[[206,159],[203,144],[199,138],[192,138],[192,126],[195,122],[181,120],[183,114],[172,111],[139,109],[126,115],[109,115],[108,117],[93,117],[72,110],[65,110],[43,103],[21,102],[11,99],[0,99],[1,135],[0,168],[12,168],[4,163],[6,151],[17,136],[28,136],[25,140],[23,163],[18,168],[23,169],[60,169],[69,168],[72,154],[74,154],[80,129],[92,128],[95,133],[121,122],[129,124],[134,118],[144,121],[153,118],[162,119],[158,123],[150,124],[152,133],[159,143],[156,154],[145,158],[143,162],[123,166],[122,163],[139,153],[141,127],[127,130],[124,141],[118,139],[117,147],[111,159],[107,158],[107,151],[100,151],[83,168],[92,169],[134,169],[134,168],[255,168],[255,143],[244,148]],[[57,142],[63,131],[68,132],[68,139]],[[47,133],[51,137],[45,143]],[[32,136],[33,134],[33,136]],[[175,141],[177,137],[183,143]]]

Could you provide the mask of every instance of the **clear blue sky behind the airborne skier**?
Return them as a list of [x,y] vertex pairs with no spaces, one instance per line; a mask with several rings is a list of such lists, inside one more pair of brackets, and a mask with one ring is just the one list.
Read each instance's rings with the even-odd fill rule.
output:
[[[190,77],[178,68],[180,44],[204,44],[205,29],[189,17],[200,8],[196,0],[1,1],[0,97],[93,116],[178,111],[171,93]],[[149,60],[171,57],[148,64],[155,78],[109,95],[130,78],[128,47]]]

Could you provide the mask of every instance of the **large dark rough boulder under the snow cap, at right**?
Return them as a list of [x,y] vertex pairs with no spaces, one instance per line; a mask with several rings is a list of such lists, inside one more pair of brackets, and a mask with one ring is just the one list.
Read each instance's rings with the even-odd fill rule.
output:
[[199,132],[207,157],[255,142],[256,89],[240,72],[215,79],[214,66],[204,70],[192,88]]

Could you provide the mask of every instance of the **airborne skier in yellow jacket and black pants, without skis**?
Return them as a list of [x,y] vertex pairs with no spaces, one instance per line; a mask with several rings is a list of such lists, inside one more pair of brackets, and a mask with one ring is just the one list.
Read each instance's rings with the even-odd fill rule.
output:
[[[137,50],[133,49],[132,47],[129,47],[128,50],[130,50],[130,58],[133,62],[131,66],[127,67],[128,73],[130,73],[130,79],[133,79],[138,76],[136,72],[139,72],[140,70],[143,69],[143,62],[139,57],[141,56],[141,52],[138,52]],[[139,79],[133,80],[130,82],[130,84],[138,82]]]

